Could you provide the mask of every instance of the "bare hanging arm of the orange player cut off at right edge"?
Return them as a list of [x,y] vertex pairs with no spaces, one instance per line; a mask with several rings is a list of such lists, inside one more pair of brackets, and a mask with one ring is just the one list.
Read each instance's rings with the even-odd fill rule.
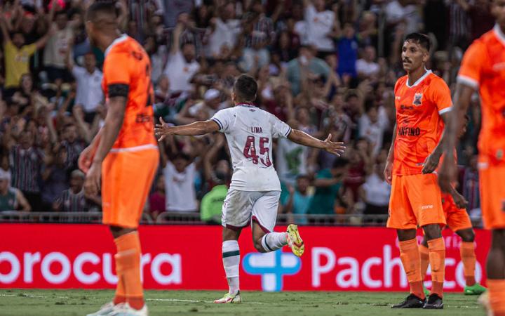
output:
[[457,135],[462,130],[465,114],[470,106],[473,87],[459,83],[454,93],[452,111],[445,121],[445,143],[443,144],[444,159],[438,173],[438,184],[443,192],[451,192],[452,183],[457,178],[457,166],[454,162],[454,148],[457,145]]

